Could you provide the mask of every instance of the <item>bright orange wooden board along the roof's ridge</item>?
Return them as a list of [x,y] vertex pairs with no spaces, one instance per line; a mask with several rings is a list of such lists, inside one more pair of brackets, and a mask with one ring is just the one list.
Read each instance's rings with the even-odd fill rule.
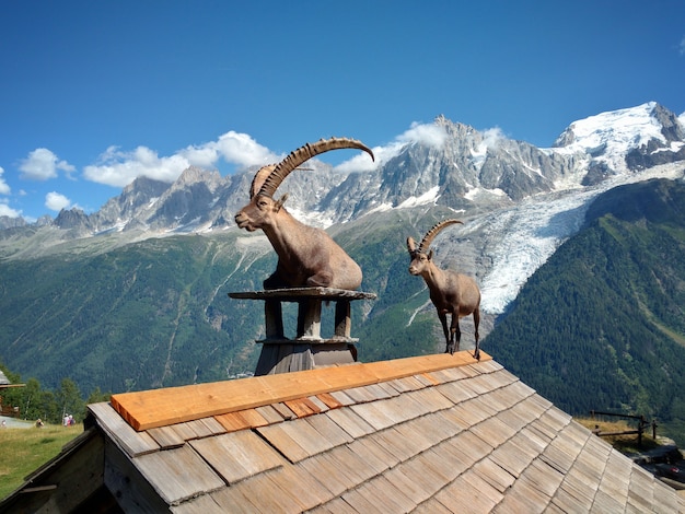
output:
[[[480,362],[489,361],[480,352]],[[468,351],[438,353],[353,366],[253,376],[239,381],[196,384],[112,396],[114,409],[136,430],[252,409],[394,378],[476,364]]]

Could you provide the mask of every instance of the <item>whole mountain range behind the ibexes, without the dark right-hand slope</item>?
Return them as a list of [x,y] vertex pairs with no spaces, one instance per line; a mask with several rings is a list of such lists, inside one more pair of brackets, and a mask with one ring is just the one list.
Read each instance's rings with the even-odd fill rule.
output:
[[[390,359],[442,350],[427,289],[407,272],[407,236],[464,222],[433,247],[480,284],[483,340],[597,198],[683,180],[685,117],[650,102],[573,121],[542,149],[438,116],[372,171],[307,167],[279,192],[361,265],[361,289],[379,297],[355,306],[352,336],[361,360]],[[249,373],[263,314],[227,293],[260,289],[276,262],[262,233],[233,221],[254,172],[190,167],[173,184],[139,177],[92,214],[0,218],[0,360],[47,385],[67,375],[112,392]]]

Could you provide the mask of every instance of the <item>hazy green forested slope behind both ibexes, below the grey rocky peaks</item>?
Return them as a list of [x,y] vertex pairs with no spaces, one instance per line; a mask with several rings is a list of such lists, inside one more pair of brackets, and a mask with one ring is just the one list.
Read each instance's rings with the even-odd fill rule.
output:
[[[426,308],[426,285],[407,271],[405,238],[418,232],[414,223],[431,226],[448,213],[437,208],[413,221],[408,215],[379,213],[334,234],[364,270],[362,290],[379,296],[352,304],[352,337],[365,362],[433,353],[441,340],[434,312]],[[47,387],[69,377],[85,393],[254,371],[264,304],[228,293],[260,290],[274,271],[276,254],[266,237],[237,230],[120,245],[108,241],[119,234],[101,237],[98,247],[0,260],[4,364]],[[285,306],[285,315],[287,334],[294,336],[294,304]],[[333,334],[333,307],[324,308],[322,325],[324,336]]]

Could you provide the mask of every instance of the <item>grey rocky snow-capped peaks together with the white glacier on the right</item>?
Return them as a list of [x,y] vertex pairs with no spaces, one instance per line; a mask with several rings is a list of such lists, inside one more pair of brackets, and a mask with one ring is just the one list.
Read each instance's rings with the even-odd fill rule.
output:
[[[484,311],[497,315],[578,231],[597,195],[622,184],[683,176],[682,118],[651,102],[574,121],[555,147],[538,149],[439,116],[429,137],[383,152],[371,171],[341,173],[312,160],[312,170],[289,175],[278,194],[289,192],[286,206],[293,215],[329,227],[334,236],[348,224],[369,233],[381,213],[407,220],[408,232],[429,229],[418,222],[427,213],[458,217],[465,224],[441,235],[437,256],[475,276]],[[233,217],[247,201],[253,175],[254,170],[221,177],[190,167],[171,185],[139,177],[93,214],[72,209],[42,225],[0,230],[0,257],[101,253],[149,237],[234,231]],[[244,233],[239,241],[259,237],[260,232]]]

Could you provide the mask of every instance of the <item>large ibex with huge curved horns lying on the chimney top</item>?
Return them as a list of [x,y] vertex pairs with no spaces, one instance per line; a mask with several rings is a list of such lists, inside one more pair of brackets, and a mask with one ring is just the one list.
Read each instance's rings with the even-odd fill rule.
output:
[[293,170],[314,155],[339,149],[363,150],[374,159],[373,152],[355,139],[322,139],[255,174],[249,203],[235,214],[235,222],[249,232],[262,229],[278,255],[276,271],[264,281],[264,289],[323,287],[353,291],[361,285],[361,268],[324,230],[295,220],[283,208],[287,194],[274,199],[276,189]]

